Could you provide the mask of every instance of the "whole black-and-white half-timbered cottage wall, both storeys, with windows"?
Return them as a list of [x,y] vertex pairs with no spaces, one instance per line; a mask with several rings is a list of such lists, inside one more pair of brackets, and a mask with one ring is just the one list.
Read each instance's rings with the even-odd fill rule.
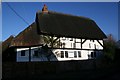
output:
[[[42,53],[41,46],[29,48],[17,48],[17,62],[28,61],[64,61],[64,60],[85,60],[96,58],[102,53],[102,40],[60,38],[64,43],[59,49],[51,49],[53,55],[46,57]],[[30,54],[30,56],[29,56]]]

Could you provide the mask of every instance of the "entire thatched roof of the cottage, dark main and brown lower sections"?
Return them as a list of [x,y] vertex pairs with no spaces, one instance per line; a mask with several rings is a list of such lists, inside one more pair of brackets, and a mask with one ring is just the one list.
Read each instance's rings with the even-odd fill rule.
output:
[[41,35],[84,39],[106,38],[106,35],[97,24],[89,18],[45,11],[37,12],[36,21],[20,32],[14,39],[10,37],[6,46],[29,47],[42,45],[44,41]]

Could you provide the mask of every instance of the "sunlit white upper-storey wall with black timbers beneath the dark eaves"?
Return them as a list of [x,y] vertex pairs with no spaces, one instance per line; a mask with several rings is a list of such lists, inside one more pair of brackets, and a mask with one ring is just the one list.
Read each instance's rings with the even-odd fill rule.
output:
[[[70,41],[71,38],[60,38],[60,41],[62,43],[65,43],[65,48],[79,48],[81,49],[81,39],[75,39],[73,38],[72,41]],[[85,39],[82,39],[82,42]],[[76,43],[74,42],[76,41]],[[98,40],[102,45],[103,45],[103,40]],[[98,43],[97,40],[86,40],[83,44],[82,44],[82,49],[103,49],[103,47]],[[74,47],[74,43],[75,43],[75,47]]]

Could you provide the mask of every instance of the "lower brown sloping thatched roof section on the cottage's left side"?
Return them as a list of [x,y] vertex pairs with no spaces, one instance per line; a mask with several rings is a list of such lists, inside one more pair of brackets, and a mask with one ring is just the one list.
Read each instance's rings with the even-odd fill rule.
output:
[[36,23],[32,23],[20,32],[11,42],[11,46],[35,46],[43,43],[41,36],[37,34]]

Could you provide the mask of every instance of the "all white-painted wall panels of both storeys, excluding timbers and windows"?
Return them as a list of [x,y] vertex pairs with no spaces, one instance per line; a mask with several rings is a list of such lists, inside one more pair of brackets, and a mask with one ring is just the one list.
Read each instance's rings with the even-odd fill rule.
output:
[[[82,42],[85,39],[82,39]],[[103,47],[97,42],[97,40],[86,40],[83,45],[82,45],[82,49],[86,49],[86,50],[82,50],[81,49],[81,39],[72,39],[71,38],[60,38],[60,41],[62,43],[65,43],[65,48],[74,48],[74,50],[65,50],[65,49],[53,49],[53,53],[55,54],[57,60],[59,61],[63,61],[63,60],[85,60],[85,59],[89,59],[88,55],[91,55],[91,52],[93,52],[93,50],[95,49],[95,45],[96,45],[96,49],[97,50],[102,50]],[[74,42],[77,42],[74,46]],[[103,45],[103,41],[99,40],[99,42]],[[34,57],[34,51],[38,50],[38,48],[40,49],[41,46],[37,46],[37,47],[31,47],[31,61],[48,61],[48,59],[46,58],[46,56],[44,54],[39,54],[39,57]],[[81,50],[75,50],[75,48],[81,49]],[[89,50],[87,50],[89,49]],[[25,50],[25,56],[21,56],[21,51]],[[68,56],[69,58],[61,58],[60,56],[56,55],[56,52],[60,53],[61,51],[68,51]],[[81,52],[81,57],[73,57],[74,56],[74,51],[80,51]],[[65,56],[65,53],[64,53]],[[71,56],[71,57],[70,57]],[[29,61],[29,48],[18,48],[17,49],[17,56],[16,56],[16,60],[17,62],[24,62],[24,61]],[[55,61],[56,58],[52,55],[51,57],[51,61]]]

